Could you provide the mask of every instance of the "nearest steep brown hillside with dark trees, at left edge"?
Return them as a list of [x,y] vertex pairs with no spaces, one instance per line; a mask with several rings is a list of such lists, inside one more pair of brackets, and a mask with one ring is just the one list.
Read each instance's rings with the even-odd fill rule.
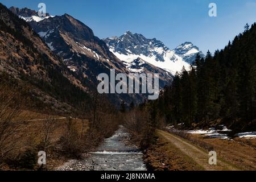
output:
[[16,83],[10,90],[27,88],[32,99],[30,109],[71,113],[90,101],[85,81],[51,52],[27,22],[2,4],[0,47],[0,84],[10,79]]

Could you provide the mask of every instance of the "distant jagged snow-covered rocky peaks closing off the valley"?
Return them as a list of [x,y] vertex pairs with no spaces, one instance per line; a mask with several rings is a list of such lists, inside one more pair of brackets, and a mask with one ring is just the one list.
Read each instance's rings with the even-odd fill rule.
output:
[[[183,67],[189,69],[197,53],[203,56],[199,48],[191,42],[185,42],[171,50],[163,42],[147,39],[142,34],[133,34],[131,31],[118,37],[104,39],[110,51],[131,68],[138,57],[156,67],[162,68],[172,75],[181,71]],[[133,69],[134,71],[134,69]]]

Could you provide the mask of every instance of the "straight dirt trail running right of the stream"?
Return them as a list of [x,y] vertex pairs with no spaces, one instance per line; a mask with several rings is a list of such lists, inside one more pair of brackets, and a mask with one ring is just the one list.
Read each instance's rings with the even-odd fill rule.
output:
[[158,130],[159,135],[165,138],[168,142],[174,144],[183,154],[192,158],[199,166],[203,167],[207,171],[238,171],[240,169],[233,167],[232,165],[223,162],[223,160],[218,159],[217,156],[217,165],[209,164],[208,152],[203,150],[200,147],[194,146],[193,144],[177,137],[173,134],[167,133],[162,130]]

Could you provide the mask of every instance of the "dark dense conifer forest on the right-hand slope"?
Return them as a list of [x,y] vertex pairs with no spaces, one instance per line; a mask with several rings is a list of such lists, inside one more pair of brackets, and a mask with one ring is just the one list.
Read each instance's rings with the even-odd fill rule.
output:
[[256,24],[248,24],[221,51],[197,55],[191,71],[176,73],[155,105],[168,123],[201,127],[225,123],[233,130],[255,129]]

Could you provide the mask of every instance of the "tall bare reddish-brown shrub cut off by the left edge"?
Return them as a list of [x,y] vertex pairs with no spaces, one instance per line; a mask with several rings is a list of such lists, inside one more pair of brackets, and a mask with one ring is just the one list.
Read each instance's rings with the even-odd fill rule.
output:
[[[24,133],[24,100],[18,90],[11,90],[0,84],[0,163],[7,158],[15,158]],[[24,117],[24,115],[23,115]]]

